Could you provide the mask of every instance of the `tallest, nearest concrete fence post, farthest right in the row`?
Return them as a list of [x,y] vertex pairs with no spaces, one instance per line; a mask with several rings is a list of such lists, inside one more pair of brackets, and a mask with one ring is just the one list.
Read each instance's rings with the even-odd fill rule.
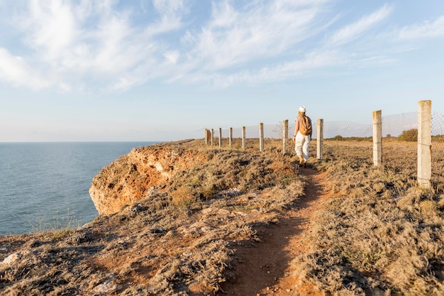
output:
[[432,175],[432,102],[418,102],[418,183],[431,187]]

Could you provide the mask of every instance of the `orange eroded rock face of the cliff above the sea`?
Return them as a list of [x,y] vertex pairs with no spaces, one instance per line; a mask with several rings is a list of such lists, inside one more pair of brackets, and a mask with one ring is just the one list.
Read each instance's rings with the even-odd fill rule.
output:
[[113,214],[144,199],[152,188],[165,188],[176,172],[195,162],[192,150],[133,148],[93,178],[89,195],[99,214]]

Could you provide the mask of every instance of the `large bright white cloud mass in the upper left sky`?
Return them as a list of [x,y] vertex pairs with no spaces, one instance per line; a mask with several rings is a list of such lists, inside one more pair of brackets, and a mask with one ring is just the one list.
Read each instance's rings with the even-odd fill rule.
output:
[[[165,72],[156,67],[162,65],[169,45],[156,37],[182,26],[180,13],[186,11],[182,1],[154,1],[159,14],[143,23],[133,23],[137,11],[117,10],[117,4],[112,0],[30,1],[14,19],[30,46],[23,60],[47,80],[57,77],[59,82],[47,85],[60,85],[64,91],[70,84],[81,89],[84,83],[94,82],[107,85],[106,89],[128,89]],[[173,62],[179,57],[174,50],[167,56]]]

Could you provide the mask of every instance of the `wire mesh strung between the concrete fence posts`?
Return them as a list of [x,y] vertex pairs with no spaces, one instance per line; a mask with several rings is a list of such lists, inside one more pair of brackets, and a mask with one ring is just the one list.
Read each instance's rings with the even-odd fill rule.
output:
[[[317,136],[317,122],[313,120],[313,139]],[[416,142],[418,142],[418,112],[409,112],[403,114],[394,114],[382,116],[382,137],[386,148],[383,149],[382,158],[384,163],[396,163],[401,158],[406,158],[408,163],[413,167],[416,166]],[[263,138],[282,139],[284,137],[283,122],[279,124],[261,124]],[[233,139],[248,138],[250,141],[260,138],[260,124],[257,126],[245,126],[243,128],[231,128],[231,137]],[[230,136],[230,129],[220,129],[221,139]],[[294,133],[294,123],[288,125],[287,138],[292,137]],[[213,137],[218,138],[218,131],[213,132]],[[430,135],[430,133],[429,133]],[[365,141],[368,146],[368,155],[362,155],[364,158],[372,158],[372,140],[373,140],[373,123],[360,124],[352,121],[323,121],[323,140],[327,141]],[[431,182],[433,187],[440,188],[444,191],[444,115],[440,113],[431,114],[431,140],[433,143],[432,165],[431,165]],[[256,140],[254,140],[256,141]],[[217,143],[217,142],[215,142]],[[219,141],[221,143],[221,141]],[[285,143],[285,142],[284,142]],[[338,143],[338,142],[337,142]],[[284,144],[285,145],[285,144]],[[291,146],[291,144],[289,144]],[[353,145],[353,144],[352,144]],[[356,144],[355,144],[356,145]],[[313,141],[316,146],[316,141]],[[384,146],[384,144],[382,145]],[[348,146],[349,147],[349,146]],[[350,146],[351,147],[351,146]],[[312,148],[311,148],[312,149]],[[401,150],[405,150],[401,153]],[[292,149],[290,149],[292,150]],[[412,167],[412,168],[413,168]],[[419,180],[419,179],[418,179]]]

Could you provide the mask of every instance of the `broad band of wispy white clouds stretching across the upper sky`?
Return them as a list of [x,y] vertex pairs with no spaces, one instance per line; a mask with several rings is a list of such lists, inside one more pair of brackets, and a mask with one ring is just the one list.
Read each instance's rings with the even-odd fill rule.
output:
[[[221,0],[199,16],[192,13],[196,6],[202,8],[200,1],[146,0],[139,5],[117,0],[26,2],[9,18],[25,46],[17,50],[0,43],[0,80],[63,92],[124,91],[151,80],[229,87],[313,75],[341,64],[392,61],[366,48],[353,63],[353,53],[357,40],[388,31],[381,24],[394,6],[364,12],[337,28],[347,18],[338,17],[332,0]],[[333,33],[324,36],[326,29]],[[398,39],[441,35],[444,16],[406,26]]]

